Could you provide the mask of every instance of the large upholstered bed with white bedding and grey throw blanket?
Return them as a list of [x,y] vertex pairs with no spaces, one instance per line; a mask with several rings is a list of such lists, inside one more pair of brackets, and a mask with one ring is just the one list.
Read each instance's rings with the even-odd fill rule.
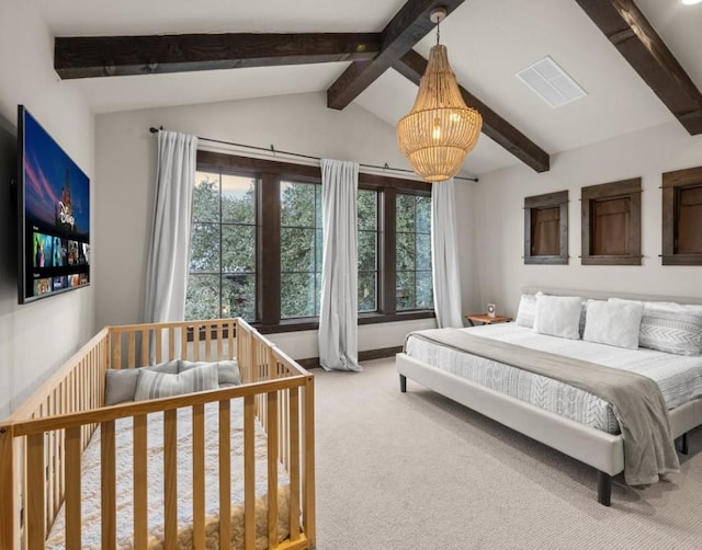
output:
[[[586,300],[580,302],[587,303]],[[599,307],[599,300],[595,305]],[[671,330],[672,321],[669,319],[659,325],[650,325],[655,321],[650,316],[660,309],[672,310],[676,306],[643,302],[639,321],[636,321],[637,340],[632,346],[635,350],[581,340],[587,330],[587,308],[580,311],[579,318],[574,319],[576,335],[571,337],[537,333],[533,328],[533,320],[532,325],[529,322],[506,323],[462,331],[468,332],[474,339],[495,340],[509,346],[537,350],[537,353],[547,353],[557,359],[562,358],[564,363],[587,360],[587,365],[604,365],[618,371],[638,371],[648,382],[654,380],[660,389],[667,410],[666,420],[669,422],[669,446],[672,447],[672,439],[678,437],[687,446],[687,433],[702,424],[702,356],[699,355],[702,310],[699,306],[690,306],[691,309],[680,313],[687,316],[686,321],[689,321],[686,326],[690,330],[684,335],[684,344],[692,346],[692,351],[697,345],[697,354],[690,352],[681,355],[638,347],[638,337],[644,337],[642,342],[649,345],[646,339],[659,333],[660,326]],[[520,302],[520,312],[522,309],[524,308]],[[595,311],[597,308],[592,306],[592,309]],[[665,314],[668,314],[667,310]],[[408,335],[405,351],[397,355],[396,360],[401,391],[406,391],[407,378],[410,378],[596,468],[598,501],[610,505],[612,477],[621,472],[627,473],[625,458],[630,451],[625,452],[625,443],[631,445],[623,437],[621,419],[614,413],[611,403],[539,373],[525,371],[506,364],[508,362],[486,357],[489,354],[480,352],[483,356],[477,356],[431,340],[422,337],[421,332]],[[675,468],[669,468],[669,471],[675,471]]]

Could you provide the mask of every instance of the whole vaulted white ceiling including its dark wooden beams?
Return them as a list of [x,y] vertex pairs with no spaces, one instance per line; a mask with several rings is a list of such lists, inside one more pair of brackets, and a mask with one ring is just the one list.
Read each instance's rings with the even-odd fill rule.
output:
[[[467,173],[520,162],[543,172],[554,153],[670,121],[702,133],[702,3],[35,1],[58,37],[57,72],[95,113],[326,91],[330,108],[355,102],[394,126],[435,43],[427,14],[445,5],[441,43],[485,119]],[[172,34],[194,36],[159,37]],[[516,77],[545,56],[584,99],[552,108]]]

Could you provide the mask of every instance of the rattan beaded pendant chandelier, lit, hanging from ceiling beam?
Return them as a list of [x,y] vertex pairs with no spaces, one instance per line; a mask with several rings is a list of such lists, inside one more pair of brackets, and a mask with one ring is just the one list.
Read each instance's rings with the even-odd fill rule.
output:
[[446,47],[439,44],[438,24],[445,16],[445,8],[431,12],[431,21],[437,23],[437,45],[429,53],[412,110],[397,123],[401,153],[428,182],[453,177],[477,144],[483,127],[480,113],[467,107],[461,96]]

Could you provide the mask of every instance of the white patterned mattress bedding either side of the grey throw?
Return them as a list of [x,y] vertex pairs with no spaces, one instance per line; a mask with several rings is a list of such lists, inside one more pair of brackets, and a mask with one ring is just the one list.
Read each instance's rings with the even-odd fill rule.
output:
[[[516,323],[489,324],[463,330],[473,331],[480,336],[647,376],[660,387],[668,409],[675,409],[702,396],[701,356],[686,357],[644,348],[625,350],[581,340],[546,336]],[[507,393],[581,424],[611,434],[619,433],[619,425],[609,403],[552,378],[462,353],[411,335],[407,339],[406,353],[475,383]]]

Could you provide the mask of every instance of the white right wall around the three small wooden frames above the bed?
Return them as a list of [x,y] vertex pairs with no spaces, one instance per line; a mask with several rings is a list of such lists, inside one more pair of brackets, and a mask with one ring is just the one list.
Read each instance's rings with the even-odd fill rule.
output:
[[[473,309],[495,302],[514,314],[523,287],[702,297],[702,268],[663,266],[661,173],[702,165],[702,136],[678,124],[630,134],[552,158],[550,172],[519,165],[480,176],[474,186],[475,237],[462,250],[474,266]],[[580,187],[642,177],[641,266],[580,265]],[[568,190],[568,265],[524,265],[524,197]],[[460,207],[468,208],[462,204]]]

